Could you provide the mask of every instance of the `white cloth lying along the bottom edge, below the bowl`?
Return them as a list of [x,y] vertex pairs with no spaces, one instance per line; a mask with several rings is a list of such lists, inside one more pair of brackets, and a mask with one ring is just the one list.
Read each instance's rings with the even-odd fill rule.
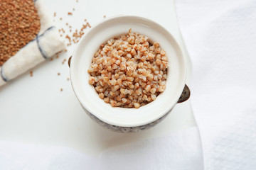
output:
[[4,170],[202,170],[202,163],[197,128],[114,147],[98,157],[66,147],[0,142],[0,169]]

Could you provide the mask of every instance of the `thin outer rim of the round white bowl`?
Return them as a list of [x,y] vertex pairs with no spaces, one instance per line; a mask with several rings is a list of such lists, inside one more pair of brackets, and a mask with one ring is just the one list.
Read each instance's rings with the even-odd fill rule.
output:
[[[78,49],[80,48],[80,44],[82,43],[82,40],[86,37],[86,35],[90,34],[94,28],[97,28],[98,26],[102,25],[103,23],[107,23],[107,22],[112,21],[112,20],[114,20],[114,19],[117,19],[117,18],[127,18],[127,17],[129,17],[129,18],[139,18],[139,19],[144,20],[144,21],[146,21],[146,22],[154,23],[156,26],[159,26],[159,27],[162,28],[166,33],[168,33],[169,36],[171,36],[171,38],[173,38],[174,42],[176,43],[176,50],[178,50],[178,52],[180,52],[181,58],[182,58],[182,62],[183,62],[184,77],[183,77],[183,79],[182,79],[181,81],[182,81],[183,86],[185,86],[185,84],[186,84],[187,67],[186,67],[186,60],[185,60],[183,51],[181,50],[181,46],[178,44],[178,42],[177,42],[177,40],[174,38],[174,36],[171,35],[171,33],[170,33],[168,30],[166,30],[166,28],[164,28],[163,26],[161,26],[159,23],[156,23],[156,21],[152,21],[151,19],[149,19],[149,18],[144,18],[144,17],[142,17],[142,16],[118,15],[118,16],[112,16],[112,17],[109,17],[109,18],[105,18],[105,20],[98,22],[97,24],[95,24],[95,26],[92,26],[92,28],[90,28],[90,30],[87,30],[87,32],[85,33],[85,35],[82,36],[82,38],[81,38],[80,41],[78,42],[78,45],[76,45],[75,50],[73,51],[73,55],[72,55],[73,58],[74,58],[74,56],[76,55],[76,53],[78,52]],[[73,88],[73,91],[74,91],[74,93],[75,93],[75,96],[78,98],[78,101],[80,102],[82,108],[84,108],[87,113],[90,113],[90,114],[94,115],[96,118],[102,120],[102,122],[107,123],[107,124],[110,124],[110,125],[117,125],[117,126],[122,126],[122,127],[137,127],[137,126],[141,126],[141,125],[146,125],[146,124],[152,123],[152,122],[154,122],[155,120],[157,120],[157,119],[163,117],[164,115],[166,115],[166,113],[169,113],[169,111],[171,111],[171,109],[174,108],[174,106],[176,106],[176,103],[178,102],[178,98],[176,98],[176,102],[175,102],[172,106],[170,106],[168,109],[166,109],[164,113],[161,113],[161,114],[159,114],[159,116],[158,116],[157,118],[154,118],[154,119],[152,119],[152,120],[150,120],[150,121],[148,120],[148,121],[146,121],[146,122],[144,122],[144,123],[137,123],[137,124],[134,124],[134,123],[132,123],[132,124],[131,124],[131,123],[130,123],[130,124],[120,124],[120,123],[118,124],[118,123],[113,123],[112,121],[110,121],[110,120],[108,120],[108,119],[105,119],[105,118],[102,118],[102,117],[99,117],[99,116],[95,115],[95,114],[93,113],[93,111],[90,111],[90,109],[87,108],[87,105],[86,105],[85,102],[83,102],[82,97],[80,96],[78,89],[75,88],[75,82],[74,82],[74,80],[72,79],[72,77],[73,77],[73,76],[72,76],[72,75],[73,75],[73,68],[75,68],[75,67],[74,67],[74,62],[72,62],[72,60],[71,60],[71,62],[70,62],[70,81],[71,81],[72,88]],[[180,95],[182,94],[183,86],[179,88],[179,90],[180,90]],[[100,98],[99,98],[99,99],[100,99]],[[100,100],[102,100],[102,99],[100,99]],[[130,109],[130,108],[125,108],[125,109]]]

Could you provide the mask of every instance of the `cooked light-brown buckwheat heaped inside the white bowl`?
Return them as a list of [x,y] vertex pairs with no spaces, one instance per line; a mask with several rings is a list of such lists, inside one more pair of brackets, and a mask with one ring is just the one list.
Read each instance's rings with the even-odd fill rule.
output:
[[107,40],[92,57],[89,83],[112,107],[139,108],[166,89],[168,57],[158,42],[130,29]]

